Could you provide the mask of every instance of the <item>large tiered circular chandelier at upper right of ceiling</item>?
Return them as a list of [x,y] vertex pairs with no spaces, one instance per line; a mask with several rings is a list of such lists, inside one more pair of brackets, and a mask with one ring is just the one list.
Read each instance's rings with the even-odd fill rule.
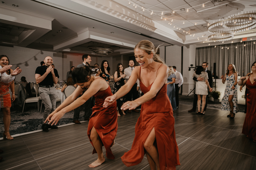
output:
[[241,12],[208,24],[209,41],[228,41],[235,33],[256,27],[256,11]]

